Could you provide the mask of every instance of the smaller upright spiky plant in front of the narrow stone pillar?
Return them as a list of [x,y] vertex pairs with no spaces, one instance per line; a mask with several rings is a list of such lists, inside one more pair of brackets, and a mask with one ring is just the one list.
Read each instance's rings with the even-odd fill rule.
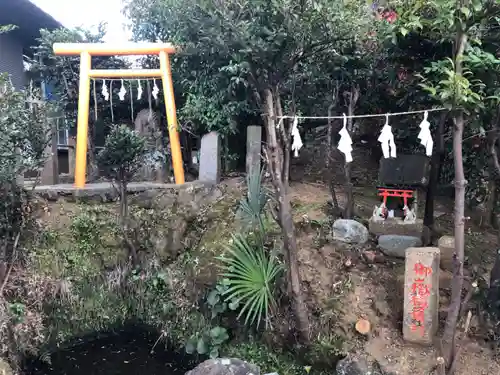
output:
[[267,189],[262,186],[263,171],[252,169],[247,174],[247,196],[240,201],[237,217],[244,229],[258,228],[263,232],[263,215],[269,199]]

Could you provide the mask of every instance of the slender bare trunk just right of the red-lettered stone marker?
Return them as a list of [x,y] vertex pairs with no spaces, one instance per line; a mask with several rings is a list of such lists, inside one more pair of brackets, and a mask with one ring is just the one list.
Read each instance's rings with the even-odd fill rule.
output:
[[[455,74],[462,74],[462,57],[467,42],[467,36],[460,31],[460,26],[457,28],[456,39],[456,54],[454,57]],[[454,217],[454,234],[455,234],[455,253],[453,280],[451,286],[451,302],[446,318],[446,325],[443,334],[443,356],[448,369],[455,360],[455,336],[460,314],[460,306],[462,303],[462,286],[464,274],[464,259],[465,259],[465,187],[467,181],[464,175],[463,165],[463,131],[464,131],[464,112],[462,109],[456,109],[454,115],[453,128],[453,162],[455,169],[455,217]],[[448,375],[452,375],[449,371]]]

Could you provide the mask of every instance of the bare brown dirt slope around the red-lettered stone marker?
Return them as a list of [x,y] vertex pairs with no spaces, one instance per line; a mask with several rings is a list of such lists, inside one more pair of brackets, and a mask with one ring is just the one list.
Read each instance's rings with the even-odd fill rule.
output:
[[[343,205],[345,195],[340,186],[337,190],[339,203]],[[361,218],[368,219],[378,202],[373,190],[370,186],[355,189],[356,210]],[[314,179],[292,182],[290,194],[294,219],[302,224],[301,228],[306,228],[299,230],[298,237],[300,273],[310,306],[320,310],[317,314],[313,311],[315,334],[347,337],[344,350],[368,353],[393,374],[431,374],[438,356],[436,349],[410,345],[402,339],[403,261],[386,257],[382,263],[368,264],[361,256],[363,251],[381,254],[374,239],[357,248],[328,241],[325,231],[331,225],[328,221],[331,198],[324,183]],[[452,210],[449,200],[436,204],[437,222],[443,234],[452,234]],[[487,278],[497,235],[473,224],[466,233],[468,268]],[[441,311],[447,307],[449,293],[445,288],[441,290]],[[371,323],[372,331],[367,337],[354,329],[360,318]],[[441,328],[445,318],[446,314],[441,313]],[[457,375],[500,373],[500,362],[484,340],[468,336],[459,341],[459,346]]]

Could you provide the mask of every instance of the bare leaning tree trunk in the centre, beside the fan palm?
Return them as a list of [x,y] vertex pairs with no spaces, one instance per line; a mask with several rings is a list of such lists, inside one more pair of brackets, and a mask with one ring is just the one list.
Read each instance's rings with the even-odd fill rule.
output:
[[278,204],[278,223],[283,235],[283,247],[287,267],[287,281],[291,291],[292,308],[297,319],[297,330],[304,342],[309,341],[309,314],[304,302],[298,262],[297,239],[292,219],[292,207],[287,195],[288,181],[284,179],[283,173],[283,148],[278,143],[276,134],[276,116],[273,94],[267,89],[264,92],[266,113],[265,124],[267,133],[266,161],[268,170],[272,177],[274,194]]

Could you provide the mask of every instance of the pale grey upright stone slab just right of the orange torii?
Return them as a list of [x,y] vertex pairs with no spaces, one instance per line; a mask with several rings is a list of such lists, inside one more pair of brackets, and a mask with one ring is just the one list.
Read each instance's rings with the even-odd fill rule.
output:
[[198,179],[203,182],[220,181],[221,155],[220,137],[217,132],[210,132],[201,138],[200,173]]

